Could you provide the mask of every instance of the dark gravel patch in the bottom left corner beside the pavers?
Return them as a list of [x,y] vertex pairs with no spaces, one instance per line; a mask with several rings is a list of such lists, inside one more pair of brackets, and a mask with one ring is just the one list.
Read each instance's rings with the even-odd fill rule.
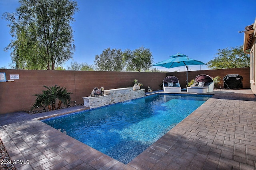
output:
[[0,139],[0,170],[16,170],[13,164],[9,164],[10,161],[9,154]]

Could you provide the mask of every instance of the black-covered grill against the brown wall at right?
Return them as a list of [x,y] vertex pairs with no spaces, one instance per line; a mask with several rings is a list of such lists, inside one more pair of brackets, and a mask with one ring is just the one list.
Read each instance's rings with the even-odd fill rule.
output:
[[239,74],[228,74],[223,77],[224,88],[243,88],[243,77]]

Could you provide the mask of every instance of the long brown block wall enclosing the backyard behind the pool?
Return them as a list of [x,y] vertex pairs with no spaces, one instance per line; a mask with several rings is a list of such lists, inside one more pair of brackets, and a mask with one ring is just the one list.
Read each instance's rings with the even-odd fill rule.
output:
[[[166,76],[173,75],[180,80],[182,88],[186,88],[186,72],[104,72],[104,71],[62,71],[62,70],[6,70],[6,80],[10,74],[19,74],[20,79],[14,82],[0,82],[0,114],[15,111],[30,110],[36,101],[33,94],[41,94],[45,90],[43,85],[66,87],[71,92],[71,100],[77,104],[83,103],[83,97],[90,96],[94,87],[104,87],[105,90],[114,88],[132,87],[137,79],[147,90],[160,89],[160,84]],[[188,80],[194,79],[198,74],[208,74],[212,77],[226,74],[240,74],[243,77],[243,88],[250,88],[250,68],[232,68],[220,70],[189,71]],[[222,82],[223,88],[223,82]]]

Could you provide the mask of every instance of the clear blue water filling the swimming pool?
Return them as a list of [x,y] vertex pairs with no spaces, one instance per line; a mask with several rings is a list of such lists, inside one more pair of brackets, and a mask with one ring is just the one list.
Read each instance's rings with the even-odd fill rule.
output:
[[43,122],[127,164],[211,97],[202,96],[156,94]]

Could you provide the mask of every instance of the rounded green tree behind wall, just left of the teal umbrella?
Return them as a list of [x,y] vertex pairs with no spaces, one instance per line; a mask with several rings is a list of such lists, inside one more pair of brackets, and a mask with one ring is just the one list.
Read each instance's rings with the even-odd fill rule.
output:
[[123,60],[127,66],[126,70],[140,72],[152,66],[153,56],[149,49],[145,49],[142,46],[134,51],[126,49],[123,53]]

